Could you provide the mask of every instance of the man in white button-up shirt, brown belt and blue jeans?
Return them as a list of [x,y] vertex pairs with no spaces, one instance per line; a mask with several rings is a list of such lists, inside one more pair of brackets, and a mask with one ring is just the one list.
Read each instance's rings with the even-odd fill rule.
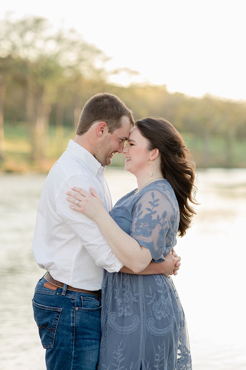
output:
[[[72,186],[89,192],[93,186],[110,211],[105,166],[113,154],[121,153],[133,123],[132,112],[115,95],[95,95],[82,110],[74,141],[45,181],[33,254],[48,273],[36,286],[33,309],[48,370],[96,368],[103,269],[129,270],[114,256],[97,224],[69,208],[66,192]],[[150,263],[141,274],[165,270],[168,275],[179,269],[179,261],[169,256],[166,265]]]

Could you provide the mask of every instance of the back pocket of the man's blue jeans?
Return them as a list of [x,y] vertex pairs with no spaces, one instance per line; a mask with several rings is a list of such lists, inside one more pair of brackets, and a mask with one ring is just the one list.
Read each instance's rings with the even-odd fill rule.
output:
[[34,320],[44,348],[52,348],[62,308],[39,305],[32,299]]

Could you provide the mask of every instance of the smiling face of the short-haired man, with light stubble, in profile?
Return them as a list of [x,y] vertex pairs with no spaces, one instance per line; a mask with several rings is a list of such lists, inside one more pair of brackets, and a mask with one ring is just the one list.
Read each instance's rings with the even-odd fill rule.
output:
[[129,137],[131,122],[127,116],[121,118],[121,128],[116,129],[112,134],[105,133],[105,137],[97,143],[95,157],[102,166],[109,166],[111,158],[115,153],[121,153],[124,148],[125,140]]

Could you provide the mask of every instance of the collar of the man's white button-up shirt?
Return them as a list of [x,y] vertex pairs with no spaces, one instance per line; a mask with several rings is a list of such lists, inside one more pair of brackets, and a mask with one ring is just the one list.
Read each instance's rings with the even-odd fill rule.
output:
[[101,163],[98,162],[98,160],[90,152],[88,152],[88,150],[73,140],[69,140],[66,150],[80,158],[83,163],[85,163],[87,167],[91,169],[94,175],[97,175],[97,172],[100,173],[105,171],[106,166],[103,167]]

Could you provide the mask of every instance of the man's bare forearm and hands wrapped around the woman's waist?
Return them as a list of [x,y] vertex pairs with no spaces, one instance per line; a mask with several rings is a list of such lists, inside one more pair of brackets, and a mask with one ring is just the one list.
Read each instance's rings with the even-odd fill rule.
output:
[[125,272],[128,274],[134,275],[156,275],[162,274],[164,276],[169,276],[173,273],[173,275],[177,275],[177,270],[180,268],[180,260],[181,258],[176,255],[174,250],[171,253],[165,256],[165,261],[161,263],[153,263],[150,264],[144,269],[143,271],[135,274],[132,270],[128,269],[126,266],[123,266],[120,269],[120,272]]

